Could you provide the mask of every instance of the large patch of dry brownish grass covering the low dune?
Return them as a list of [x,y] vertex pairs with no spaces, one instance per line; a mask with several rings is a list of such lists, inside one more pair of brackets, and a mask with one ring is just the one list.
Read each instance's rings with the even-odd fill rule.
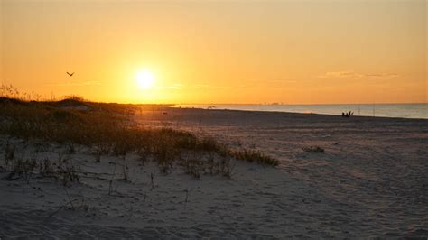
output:
[[[196,178],[206,172],[230,176],[230,159],[278,165],[277,160],[261,152],[235,151],[213,138],[199,138],[171,128],[136,125],[129,120],[134,110],[132,105],[91,103],[79,97],[49,102],[0,97],[0,134],[65,143],[71,153],[75,145],[86,145],[93,148],[96,162],[101,161],[104,154],[125,156],[137,152],[142,160],[153,156],[165,173],[178,162]],[[215,154],[220,162],[184,158],[188,152]],[[13,158],[14,148],[8,146],[5,159]]]

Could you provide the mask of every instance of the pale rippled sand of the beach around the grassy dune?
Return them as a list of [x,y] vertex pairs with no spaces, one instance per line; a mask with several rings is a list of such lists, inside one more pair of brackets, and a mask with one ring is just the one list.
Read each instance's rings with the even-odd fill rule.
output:
[[[80,184],[0,180],[0,237],[428,236],[427,120],[198,109],[149,111],[135,119],[215,135],[282,163],[273,169],[237,162],[232,180],[194,180],[180,167],[163,175],[128,154],[130,181],[124,181],[123,159],[103,156],[97,163],[81,147],[67,155],[79,167]],[[5,141],[2,136],[0,161]],[[17,157],[53,160],[66,152],[53,143],[12,141]],[[303,152],[309,145],[326,153]],[[46,152],[35,152],[41,148]]]

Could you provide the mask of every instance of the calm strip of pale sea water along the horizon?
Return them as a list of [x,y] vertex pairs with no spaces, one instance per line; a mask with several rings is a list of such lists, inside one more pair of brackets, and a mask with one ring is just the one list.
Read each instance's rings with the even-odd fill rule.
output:
[[428,104],[334,104],[334,105],[178,105],[181,107],[209,108],[247,111],[274,111],[306,114],[354,115],[424,118],[428,119]]

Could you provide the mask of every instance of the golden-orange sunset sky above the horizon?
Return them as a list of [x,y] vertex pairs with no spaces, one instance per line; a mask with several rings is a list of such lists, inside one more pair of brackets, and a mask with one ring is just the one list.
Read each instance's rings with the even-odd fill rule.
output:
[[42,97],[427,102],[424,0],[0,2],[2,83]]

